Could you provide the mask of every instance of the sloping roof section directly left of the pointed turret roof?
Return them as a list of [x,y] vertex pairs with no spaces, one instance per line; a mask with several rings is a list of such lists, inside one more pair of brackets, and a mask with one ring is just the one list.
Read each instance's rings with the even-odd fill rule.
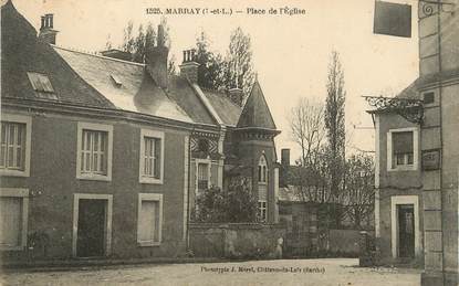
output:
[[211,89],[201,89],[223,124],[227,126],[236,126],[241,116],[241,107],[231,102],[223,93]]

